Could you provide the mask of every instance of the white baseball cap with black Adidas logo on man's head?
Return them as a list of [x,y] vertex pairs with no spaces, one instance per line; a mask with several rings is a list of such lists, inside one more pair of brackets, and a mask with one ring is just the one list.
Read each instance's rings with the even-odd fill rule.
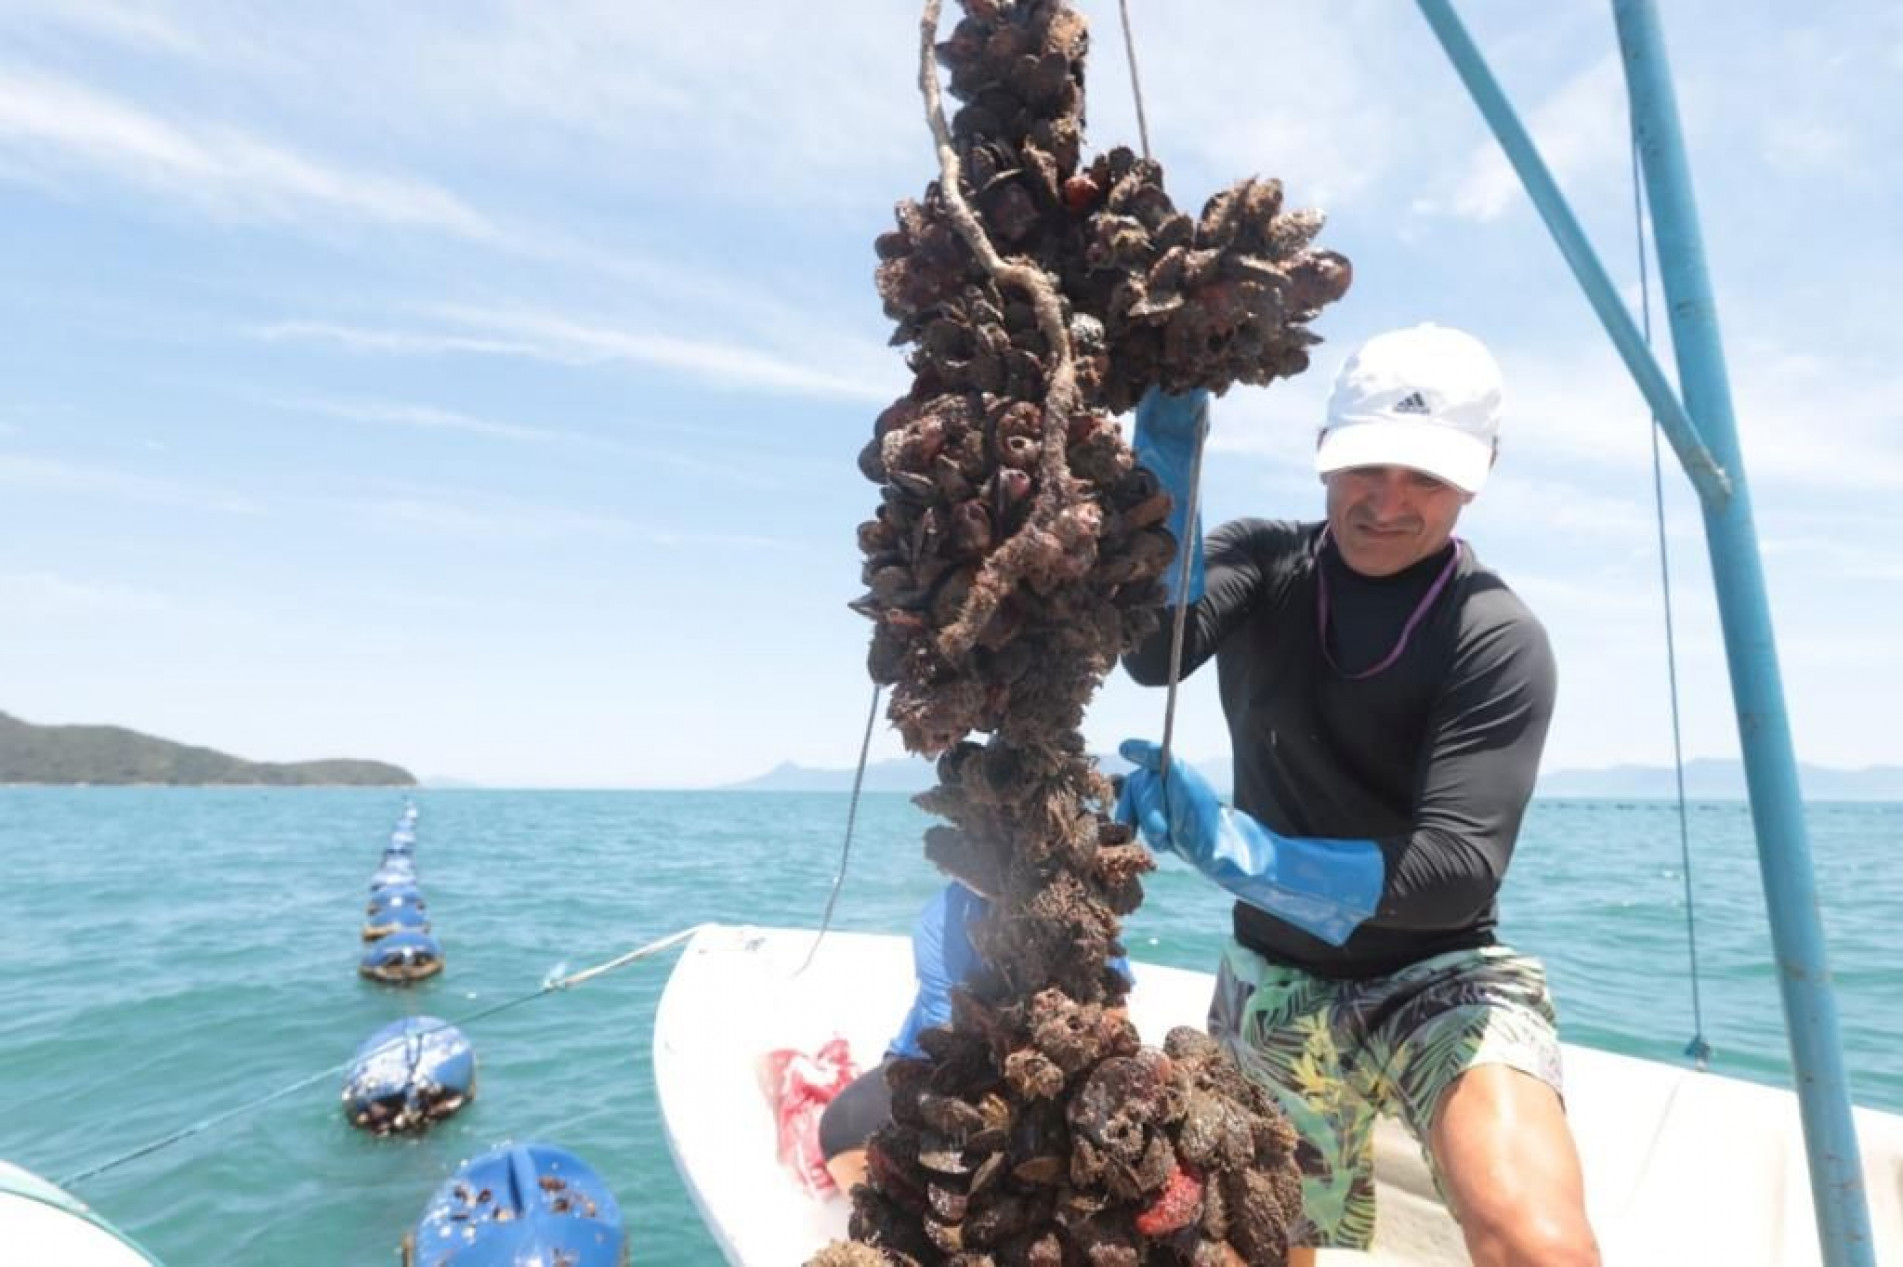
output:
[[1336,375],[1315,470],[1408,466],[1479,493],[1500,396],[1500,365],[1473,335],[1433,323],[1376,335]]

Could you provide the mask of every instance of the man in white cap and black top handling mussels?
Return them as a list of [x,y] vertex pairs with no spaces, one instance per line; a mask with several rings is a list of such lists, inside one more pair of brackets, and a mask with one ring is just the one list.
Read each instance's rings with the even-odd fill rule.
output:
[[[1153,744],[1123,750],[1144,837],[1239,898],[1210,1031],[1304,1138],[1296,1265],[1374,1235],[1378,1113],[1422,1141],[1475,1263],[1599,1261],[1545,974],[1494,940],[1555,689],[1540,622],[1454,536],[1500,400],[1454,329],[1349,358],[1315,453],[1326,519],[1224,525],[1184,595],[1182,672],[1216,658],[1235,809]],[[1201,405],[1138,409],[1178,506]],[[1165,622],[1125,668],[1161,685],[1168,656]]]

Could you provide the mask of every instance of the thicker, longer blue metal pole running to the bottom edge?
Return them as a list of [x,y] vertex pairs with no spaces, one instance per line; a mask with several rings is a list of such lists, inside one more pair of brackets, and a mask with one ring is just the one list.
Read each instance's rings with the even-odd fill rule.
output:
[[1876,1259],[1838,1041],[1836,995],[1825,963],[1810,835],[1777,673],[1777,649],[1772,643],[1758,538],[1751,525],[1751,495],[1737,447],[1732,388],[1718,341],[1718,310],[1705,272],[1692,173],[1678,129],[1678,103],[1652,2],[1614,0],[1612,13],[1625,53],[1625,86],[1646,190],[1652,196],[1652,232],[1658,240],[1659,280],[1671,312],[1684,403],[1732,478],[1730,502],[1705,504],[1705,540],[1724,622],[1724,658],[1737,704],[1737,732],[1758,835],[1758,871],[1764,877],[1772,944],[1777,951],[1791,1063],[1796,1067],[1817,1237],[1831,1267],[1869,1267]]

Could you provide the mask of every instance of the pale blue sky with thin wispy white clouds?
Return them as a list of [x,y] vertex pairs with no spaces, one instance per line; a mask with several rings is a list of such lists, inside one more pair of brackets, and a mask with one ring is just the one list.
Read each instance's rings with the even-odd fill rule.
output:
[[[1117,10],[1079,8],[1090,145],[1136,145]],[[1608,6],[1458,8],[1637,310]],[[1798,755],[1897,765],[1903,11],[1659,8]],[[1313,369],[1216,403],[1210,521],[1319,516],[1361,339],[1477,333],[1507,422],[1462,535],[1553,637],[1545,767],[1667,763],[1648,415],[1420,13],[1130,23],[1178,205],[1273,175],[1355,261]],[[0,710],[491,786],[851,767],[854,457],[910,382],[872,240],[936,175],[915,57],[900,0],[0,0]],[[1684,748],[1730,755],[1665,460]],[[1119,673],[1087,738],[1161,729]]]

